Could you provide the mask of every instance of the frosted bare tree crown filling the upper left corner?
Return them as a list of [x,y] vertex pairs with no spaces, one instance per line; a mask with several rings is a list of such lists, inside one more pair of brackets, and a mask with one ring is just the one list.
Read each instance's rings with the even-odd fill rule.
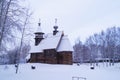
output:
[[21,31],[24,23],[22,16],[26,12],[18,0],[1,0],[0,4],[0,51],[2,51],[14,40],[16,36],[14,33]]

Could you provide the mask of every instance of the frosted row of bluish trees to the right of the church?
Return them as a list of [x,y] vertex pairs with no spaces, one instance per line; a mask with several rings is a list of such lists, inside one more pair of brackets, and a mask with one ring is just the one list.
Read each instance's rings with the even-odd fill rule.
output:
[[96,33],[84,44],[78,39],[73,48],[74,62],[118,62],[120,61],[120,27],[112,27]]

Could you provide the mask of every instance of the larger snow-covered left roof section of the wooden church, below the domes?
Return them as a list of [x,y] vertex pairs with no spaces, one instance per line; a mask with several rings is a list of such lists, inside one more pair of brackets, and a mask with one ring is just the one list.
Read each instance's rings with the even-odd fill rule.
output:
[[40,53],[45,49],[56,49],[61,36],[62,32],[58,32],[56,35],[52,33],[47,34],[38,46],[32,46],[30,53]]

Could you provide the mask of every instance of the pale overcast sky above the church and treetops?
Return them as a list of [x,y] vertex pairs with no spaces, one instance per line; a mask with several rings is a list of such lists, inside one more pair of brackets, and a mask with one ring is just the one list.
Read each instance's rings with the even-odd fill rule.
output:
[[120,0],[27,0],[33,11],[34,27],[39,18],[45,33],[53,31],[55,18],[59,30],[71,43],[82,41],[108,27],[120,26]]

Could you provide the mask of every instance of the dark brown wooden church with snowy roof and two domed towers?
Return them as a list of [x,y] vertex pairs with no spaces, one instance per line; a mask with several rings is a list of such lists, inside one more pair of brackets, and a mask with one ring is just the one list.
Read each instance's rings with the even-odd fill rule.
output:
[[28,62],[48,64],[72,64],[73,48],[67,35],[54,26],[52,33],[45,34],[38,23],[35,32],[35,45],[31,47]]

